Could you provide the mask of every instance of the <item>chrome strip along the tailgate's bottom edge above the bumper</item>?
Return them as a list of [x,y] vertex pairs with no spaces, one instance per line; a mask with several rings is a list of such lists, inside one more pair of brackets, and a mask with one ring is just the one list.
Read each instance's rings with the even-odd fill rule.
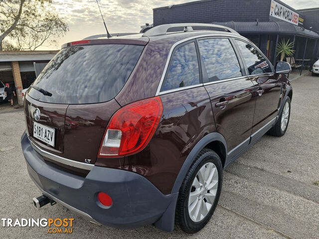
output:
[[60,156],[57,156],[53,153],[49,153],[41,148],[39,148],[38,146],[36,146],[30,139],[30,137],[28,136],[29,141],[31,143],[32,148],[37,151],[39,154],[41,154],[44,157],[47,157],[49,159],[52,159],[56,162],[62,163],[62,164],[66,164],[68,166],[71,167],[75,167],[75,168],[81,168],[81,169],[85,169],[85,170],[91,170],[94,167],[94,164],[89,164],[89,163],[82,163],[82,162],[77,162],[71,159],[67,159],[67,158],[63,158]]

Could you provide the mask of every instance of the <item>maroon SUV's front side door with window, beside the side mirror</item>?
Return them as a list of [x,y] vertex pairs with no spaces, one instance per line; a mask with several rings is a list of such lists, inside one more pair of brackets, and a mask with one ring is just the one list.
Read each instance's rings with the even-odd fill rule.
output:
[[253,94],[256,99],[252,130],[252,141],[254,141],[275,122],[282,87],[271,63],[258,48],[242,39],[235,39],[234,42],[243,58],[246,74],[256,88]]

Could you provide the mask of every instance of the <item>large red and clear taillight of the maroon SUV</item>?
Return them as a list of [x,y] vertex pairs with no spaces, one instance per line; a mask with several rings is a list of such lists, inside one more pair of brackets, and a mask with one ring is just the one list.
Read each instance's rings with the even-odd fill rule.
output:
[[105,130],[98,156],[123,156],[142,150],[157,129],[162,111],[160,97],[138,101],[118,110]]

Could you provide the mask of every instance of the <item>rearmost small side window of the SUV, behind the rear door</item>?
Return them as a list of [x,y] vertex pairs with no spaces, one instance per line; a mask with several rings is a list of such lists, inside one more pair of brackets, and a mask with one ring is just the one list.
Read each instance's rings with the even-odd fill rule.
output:
[[175,50],[161,91],[199,84],[199,68],[195,43]]

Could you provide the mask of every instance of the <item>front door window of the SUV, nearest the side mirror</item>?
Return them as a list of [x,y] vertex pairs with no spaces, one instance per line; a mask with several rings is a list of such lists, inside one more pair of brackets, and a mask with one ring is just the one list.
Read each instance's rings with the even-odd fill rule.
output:
[[236,42],[245,59],[249,75],[273,72],[269,61],[255,47],[241,40],[236,39]]

